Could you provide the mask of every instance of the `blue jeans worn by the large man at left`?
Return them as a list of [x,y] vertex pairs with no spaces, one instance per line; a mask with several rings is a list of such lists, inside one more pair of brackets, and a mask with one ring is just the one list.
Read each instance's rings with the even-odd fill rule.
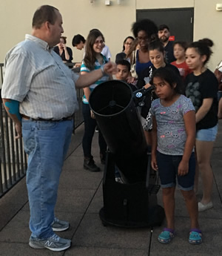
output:
[[28,154],[27,191],[31,237],[53,235],[51,224],[64,157],[70,145],[73,121],[22,119],[24,150]]

